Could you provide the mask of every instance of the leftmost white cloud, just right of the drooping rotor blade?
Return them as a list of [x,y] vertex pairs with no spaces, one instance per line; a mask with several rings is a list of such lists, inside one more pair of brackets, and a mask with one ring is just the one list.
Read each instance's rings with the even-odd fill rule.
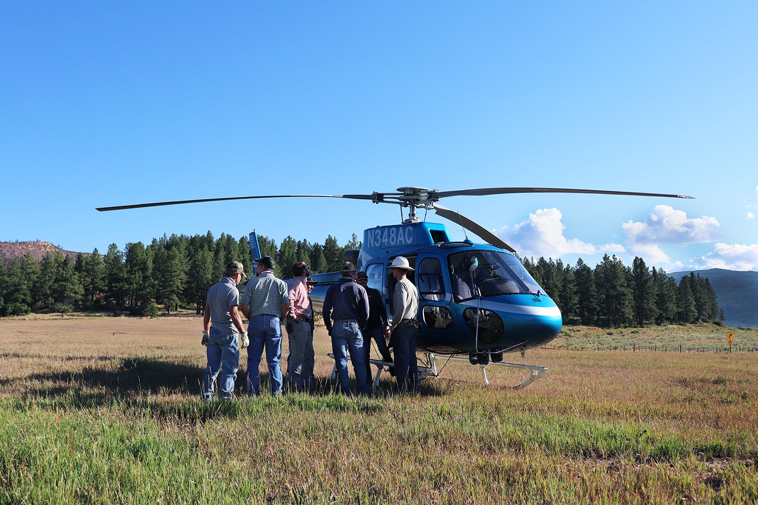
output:
[[555,207],[539,209],[530,213],[528,219],[515,226],[503,226],[493,233],[509,243],[522,257],[560,257],[562,254],[595,254],[597,251],[621,252],[618,244],[608,244],[600,248],[581,242],[578,238],[565,238],[565,226],[561,222],[561,211]]

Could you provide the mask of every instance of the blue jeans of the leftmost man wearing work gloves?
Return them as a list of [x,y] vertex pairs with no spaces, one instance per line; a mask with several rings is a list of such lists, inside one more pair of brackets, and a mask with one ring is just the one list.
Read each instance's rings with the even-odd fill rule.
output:
[[240,341],[236,332],[226,333],[211,327],[205,355],[208,357],[208,366],[202,376],[203,399],[213,399],[218,376],[218,394],[224,400],[230,400],[234,392],[236,371],[240,367]]

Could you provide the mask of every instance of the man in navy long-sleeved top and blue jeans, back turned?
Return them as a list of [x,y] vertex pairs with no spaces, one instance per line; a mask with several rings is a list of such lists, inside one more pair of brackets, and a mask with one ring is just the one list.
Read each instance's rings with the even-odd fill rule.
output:
[[[366,290],[355,282],[353,276],[356,266],[346,261],[340,269],[342,277],[337,284],[330,285],[324,295],[324,326],[332,338],[332,352],[340,390],[349,395],[349,376],[347,372],[347,352],[349,350],[352,369],[356,373],[356,390],[359,394],[368,394],[366,384],[366,367],[363,363],[363,336],[361,328],[368,320],[368,295]],[[334,325],[332,324],[334,321]]]

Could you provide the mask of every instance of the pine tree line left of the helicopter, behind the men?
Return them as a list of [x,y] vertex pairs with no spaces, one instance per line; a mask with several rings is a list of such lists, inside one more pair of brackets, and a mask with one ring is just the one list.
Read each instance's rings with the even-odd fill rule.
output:
[[[274,257],[277,277],[291,279],[298,260],[309,262],[313,273],[340,270],[345,251],[359,248],[360,242],[355,234],[346,245],[331,235],[323,244],[288,236],[277,247],[274,240],[258,236],[258,247],[262,255]],[[120,249],[111,244],[105,254],[95,248],[74,260],[61,251],[40,261],[27,253],[0,267],[0,316],[73,310],[155,316],[158,306],[171,313],[180,305],[201,313],[208,287],[221,279],[233,260],[241,261],[246,272],[252,270],[247,236],[164,235],[149,245],[130,242]]]

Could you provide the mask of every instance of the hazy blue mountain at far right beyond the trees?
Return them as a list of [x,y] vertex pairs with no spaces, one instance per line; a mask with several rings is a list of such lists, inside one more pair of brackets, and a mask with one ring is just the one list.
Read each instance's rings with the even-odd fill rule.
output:
[[712,268],[709,270],[690,270],[688,272],[669,273],[679,282],[682,276],[690,272],[708,279],[719,297],[719,307],[726,314],[728,326],[758,326],[758,272],[740,272]]

